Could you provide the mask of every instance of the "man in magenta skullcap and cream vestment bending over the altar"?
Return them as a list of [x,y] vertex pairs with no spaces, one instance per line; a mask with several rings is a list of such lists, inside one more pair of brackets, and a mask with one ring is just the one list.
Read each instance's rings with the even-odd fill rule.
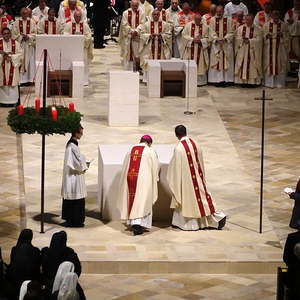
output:
[[152,138],[143,136],[127,153],[121,172],[118,208],[134,235],[151,228],[152,206],[158,197],[159,162],[151,145]]

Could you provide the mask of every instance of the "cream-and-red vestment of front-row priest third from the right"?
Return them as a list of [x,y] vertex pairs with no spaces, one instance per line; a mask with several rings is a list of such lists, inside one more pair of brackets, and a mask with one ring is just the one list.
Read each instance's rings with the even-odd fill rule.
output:
[[211,18],[209,24],[209,35],[212,45],[210,50],[210,68],[208,71],[208,82],[233,82],[234,34],[232,30],[233,26],[231,18]]

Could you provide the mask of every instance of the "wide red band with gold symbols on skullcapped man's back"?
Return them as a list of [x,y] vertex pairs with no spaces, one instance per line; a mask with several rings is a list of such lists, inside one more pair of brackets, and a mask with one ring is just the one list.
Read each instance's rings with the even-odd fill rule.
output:
[[142,160],[142,154],[145,149],[145,146],[135,146],[131,149],[130,153],[130,162],[127,173],[127,185],[128,185],[128,217],[130,216],[131,209],[133,206],[137,180],[139,176],[139,170]]

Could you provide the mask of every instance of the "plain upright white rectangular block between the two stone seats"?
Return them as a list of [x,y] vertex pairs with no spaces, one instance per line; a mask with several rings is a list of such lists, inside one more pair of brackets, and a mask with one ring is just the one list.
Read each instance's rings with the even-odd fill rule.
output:
[[139,99],[138,72],[109,72],[109,126],[138,126]]

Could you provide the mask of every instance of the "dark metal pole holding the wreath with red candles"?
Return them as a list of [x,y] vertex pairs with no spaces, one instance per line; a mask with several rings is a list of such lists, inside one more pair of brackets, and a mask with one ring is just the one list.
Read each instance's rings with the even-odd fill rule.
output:
[[[43,114],[46,115],[46,90],[47,90],[47,50],[44,49],[43,68]],[[41,233],[44,231],[44,210],[45,210],[45,134],[42,135],[42,170],[41,170]]]

